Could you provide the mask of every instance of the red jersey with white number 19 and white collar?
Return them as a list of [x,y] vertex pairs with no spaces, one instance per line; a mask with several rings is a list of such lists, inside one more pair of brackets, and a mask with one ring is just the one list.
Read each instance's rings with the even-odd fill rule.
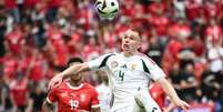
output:
[[99,106],[98,92],[88,83],[74,88],[68,82],[62,82],[59,88],[50,91],[47,101],[49,103],[58,102],[59,112],[90,111],[91,108]]

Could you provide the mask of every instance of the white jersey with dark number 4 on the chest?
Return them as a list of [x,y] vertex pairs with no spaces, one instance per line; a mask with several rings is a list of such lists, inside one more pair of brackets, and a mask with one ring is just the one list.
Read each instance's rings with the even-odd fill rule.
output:
[[164,72],[146,55],[141,53],[125,58],[120,54],[104,54],[89,61],[90,69],[105,68],[110,86],[114,95],[112,110],[134,104],[134,95],[141,89],[149,88],[150,79],[156,81],[165,77]]

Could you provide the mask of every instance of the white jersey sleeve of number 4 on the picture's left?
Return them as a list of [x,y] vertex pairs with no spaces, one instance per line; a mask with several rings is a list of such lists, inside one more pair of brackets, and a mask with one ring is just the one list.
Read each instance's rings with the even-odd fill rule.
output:
[[110,54],[104,54],[101,55],[94,60],[91,60],[88,62],[89,69],[91,70],[95,70],[95,69],[100,69],[100,68],[104,68],[107,65],[107,61],[108,59],[113,55],[112,53]]

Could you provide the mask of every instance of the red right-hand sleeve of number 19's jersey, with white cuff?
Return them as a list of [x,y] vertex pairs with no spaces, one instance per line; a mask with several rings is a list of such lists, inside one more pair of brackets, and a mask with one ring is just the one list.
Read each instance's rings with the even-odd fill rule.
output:
[[100,106],[99,93],[97,92],[95,89],[92,89],[91,108],[99,108],[99,106]]

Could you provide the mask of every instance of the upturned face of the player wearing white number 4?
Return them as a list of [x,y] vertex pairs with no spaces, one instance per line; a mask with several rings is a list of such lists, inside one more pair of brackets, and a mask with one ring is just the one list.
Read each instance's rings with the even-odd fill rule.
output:
[[141,39],[138,32],[128,30],[122,35],[122,50],[126,52],[134,52],[141,47]]

